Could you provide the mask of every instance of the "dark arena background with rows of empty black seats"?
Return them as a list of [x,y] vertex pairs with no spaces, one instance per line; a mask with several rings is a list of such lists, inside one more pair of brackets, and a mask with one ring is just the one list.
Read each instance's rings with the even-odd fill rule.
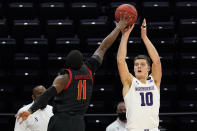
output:
[[[90,56],[112,31],[114,11],[122,3],[139,13],[128,44],[128,63],[147,53],[140,39],[142,19],[162,61],[160,126],[167,131],[197,130],[196,0],[1,0],[0,130],[13,131],[14,114],[31,103],[31,89],[49,87],[65,56],[80,49]],[[86,131],[104,131],[116,119],[122,100],[116,53],[120,37],[97,71]]]

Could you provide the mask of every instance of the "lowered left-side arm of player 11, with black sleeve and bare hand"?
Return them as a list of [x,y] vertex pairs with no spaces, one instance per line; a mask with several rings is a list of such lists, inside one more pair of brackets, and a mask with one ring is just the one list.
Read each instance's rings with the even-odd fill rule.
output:
[[49,87],[42,95],[40,95],[34,101],[34,104],[28,109],[28,111],[24,111],[15,115],[17,117],[17,120],[22,118],[22,121],[19,124],[22,124],[22,122],[25,121],[29,117],[29,115],[33,114],[38,109],[42,108],[43,106],[46,106],[48,104],[48,101],[56,94],[62,92],[68,81],[68,74],[57,76],[53,81],[52,86]]

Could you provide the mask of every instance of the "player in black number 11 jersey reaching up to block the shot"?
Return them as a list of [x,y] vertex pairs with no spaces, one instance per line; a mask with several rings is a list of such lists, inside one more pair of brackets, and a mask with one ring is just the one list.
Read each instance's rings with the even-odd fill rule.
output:
[[84,114],[92,95],[93,75],[120,31],[131,22],[129,18],[125,18],[125,15],[102,41],[92,57],[83,61],[82,53],[77,50],[67,55],[68,68],[55,78],[52,86],[38,97],[27,111],[16,115],[18,119],[22,118],[21,123],[54,97],[54,116],[49,121],[48,131],[85,131]]

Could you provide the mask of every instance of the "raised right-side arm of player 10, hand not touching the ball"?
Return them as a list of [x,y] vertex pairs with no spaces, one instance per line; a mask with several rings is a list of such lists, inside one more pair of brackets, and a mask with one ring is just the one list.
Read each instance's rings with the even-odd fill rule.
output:
[[146,19],[143,20],[141,26],[141,38],[144,41],[148,54],[153,62],[152,64],[152,77],[155,81],[157,87],[160,87],[161,77],[162,77],[162,68],[161,68],[161,61],[157,50],[155,49],[154,45],[151,43],[149,38],[147,37],[146,31]]

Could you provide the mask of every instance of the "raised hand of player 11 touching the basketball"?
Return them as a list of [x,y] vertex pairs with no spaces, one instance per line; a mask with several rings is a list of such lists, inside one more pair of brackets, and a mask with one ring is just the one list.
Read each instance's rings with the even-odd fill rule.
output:
[[120,12],[120,21],[116,22],[116,27],[118,27],[121,31],[127,27],[127,25],[132,21],[131,16],[126,18],[127,12]]

